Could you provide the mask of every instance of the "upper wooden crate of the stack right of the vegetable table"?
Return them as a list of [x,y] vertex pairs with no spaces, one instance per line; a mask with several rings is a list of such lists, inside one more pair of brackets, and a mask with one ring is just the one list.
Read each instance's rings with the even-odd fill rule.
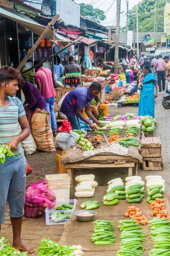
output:
[[161,157],[160,137],[142,138],[141,144],[142,157]]

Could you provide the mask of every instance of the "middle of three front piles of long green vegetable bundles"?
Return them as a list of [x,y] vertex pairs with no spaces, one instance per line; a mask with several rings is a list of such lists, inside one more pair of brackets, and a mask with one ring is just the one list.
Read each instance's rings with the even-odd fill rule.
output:
[[117,256],[142,256],[144,252],[145,232],[139,223],[132,220],[119,221],[121,231],[121,247]]

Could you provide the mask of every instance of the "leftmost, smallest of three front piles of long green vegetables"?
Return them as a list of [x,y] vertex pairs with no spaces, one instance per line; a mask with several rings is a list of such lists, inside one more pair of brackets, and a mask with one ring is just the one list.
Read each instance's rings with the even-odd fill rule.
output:
[[92,241],[95,245],[109,245],[115,243],[116,235],[113,234],[114,226],[111,221],[96,220],[94,222],[94,233]]

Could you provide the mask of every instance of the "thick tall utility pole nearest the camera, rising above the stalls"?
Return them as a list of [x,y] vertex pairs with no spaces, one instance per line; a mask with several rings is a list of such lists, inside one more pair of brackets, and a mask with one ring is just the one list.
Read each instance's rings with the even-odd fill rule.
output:
[[115,74],[118,73],[120,4],[121,4],[121,0],[117,0],[116,41],[115,41],[115,55],[114,55],[114,73]]

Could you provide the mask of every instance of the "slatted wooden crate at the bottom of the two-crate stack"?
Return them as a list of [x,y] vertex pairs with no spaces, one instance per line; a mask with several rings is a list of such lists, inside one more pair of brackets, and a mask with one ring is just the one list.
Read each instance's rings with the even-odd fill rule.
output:
[[146,171],[162,171],[163,162],[160,157],[146,157],[143,158],[142,170]]

